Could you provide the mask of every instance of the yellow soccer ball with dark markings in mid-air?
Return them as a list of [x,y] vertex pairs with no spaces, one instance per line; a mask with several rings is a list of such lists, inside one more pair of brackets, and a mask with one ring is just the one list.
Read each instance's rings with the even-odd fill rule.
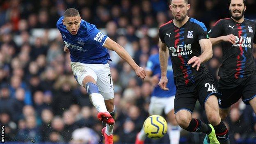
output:
[[160,139],[167,132],[167,122],[160,115],[152,115],[144,121],[143,129],[147,137]]

